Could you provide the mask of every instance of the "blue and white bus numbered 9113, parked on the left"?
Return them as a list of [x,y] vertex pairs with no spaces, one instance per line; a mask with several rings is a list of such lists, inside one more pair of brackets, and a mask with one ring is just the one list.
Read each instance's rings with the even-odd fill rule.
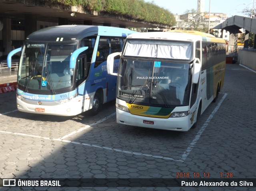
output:
[[[109,54],[120,52],[126,37],[135,33],[124,28],[66,25],[38,30],[26,38],[17,79],[19,111],[74,116],[116,98],[116,77],[108,75]],[[118,60],[119,61],[119,60]],[[118,69],[118,62],[115,65]]]

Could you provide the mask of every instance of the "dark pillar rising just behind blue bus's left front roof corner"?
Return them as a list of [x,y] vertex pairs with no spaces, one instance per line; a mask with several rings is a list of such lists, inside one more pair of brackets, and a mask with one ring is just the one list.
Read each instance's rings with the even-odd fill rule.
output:
[[37,30],[37,15],[35,14],[25,14],[25,39],[32,32]]

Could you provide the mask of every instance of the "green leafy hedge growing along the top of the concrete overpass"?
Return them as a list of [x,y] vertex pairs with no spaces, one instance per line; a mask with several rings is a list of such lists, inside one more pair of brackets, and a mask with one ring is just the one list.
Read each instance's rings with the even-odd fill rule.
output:
[[167,9],[156,6],[144,0],[44,0],[45,2],[60,3],[66,6],[83,6],[88,11],[97,11],[112,15],[124,15],[131,19],[144,20],[175,25],[174,15]]

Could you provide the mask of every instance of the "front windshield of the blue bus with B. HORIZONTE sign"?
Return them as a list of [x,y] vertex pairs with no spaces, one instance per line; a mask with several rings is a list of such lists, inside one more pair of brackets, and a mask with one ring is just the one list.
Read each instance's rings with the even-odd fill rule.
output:
[[70,55],[77,43],[30,43],[24,45],[18,84],[28,89],[52,90],[70,87],[74,69],[69,68]]

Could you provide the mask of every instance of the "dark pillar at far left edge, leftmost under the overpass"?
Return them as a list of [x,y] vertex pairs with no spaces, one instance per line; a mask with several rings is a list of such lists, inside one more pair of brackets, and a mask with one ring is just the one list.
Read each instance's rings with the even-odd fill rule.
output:
[[4,24],[4,27],[3,27],[3,30],[2,30],[2,33],[3,33],[3,54],[8,54],[10,51],[12,51],[12,44],[11,44],[11,41],[12,41],[12,31],[11,31],[11,26],[12,26],[12,23],[11,23],[11,19],[9,18],[3,18],[3,24]]

